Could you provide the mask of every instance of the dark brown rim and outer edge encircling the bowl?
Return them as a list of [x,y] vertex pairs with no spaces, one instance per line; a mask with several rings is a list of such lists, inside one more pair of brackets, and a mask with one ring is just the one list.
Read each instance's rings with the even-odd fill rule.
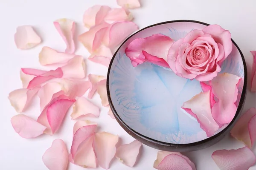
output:
[[[244,106],[244,101],[245,101],[245,96],[246,96],[246,92],[247,92],[247,66],[246,66],[246,62],[245,62],[245,59],[244,59],[244,55],[242,54],[240,48],[238,47],[238,45],[236,44],[236,42],[234,42],[233,39],[231,39],[231,41],[233,42],[233,44],[236,46],[236,48],[238,49],[240,55],[241,55],[241,58],[242,58],[242,61],[243,61],[243,65],[244,65],[244,86],[243,86],[243,90],[242,90],[242,93],[241,93],[241,98],[240,98],[240,101],[239,101],[239,105],[237,107],[237,111],[236,111],[236,114],[233,118],[233,120],[230,122],[229,125],[227,125],[227,127],[225,127],[223,130],[221,130],[219,133],[207,138],[207,139],[204,139],[204,140],[201,140],[201,141],[198,141],[198,142],[193,142],[193,143],[187,143],[187,144],[174,144],[174,143],[168,143],[168,142],[161,142],[161,141],[158,141],[156,139],[151,139],[147,136],[144,136],[140,133],[138,133],[136,130],[133,130],[131,127],[129,127],[121,118],[120,116],[118,115],[118,113],[116,112],[116,109],[113,105],[113,102],[111,100],[111,94],[110,94],[110,88],[109,88],[109,77],[110,77],[110,71],[111,71],[111,67],[112,67],[112,64],[113,64],[113,60],[115,59],[116,57],[116,54],[117,52],[119,51],[119,49],[122,47],[122,45],[124,45],[124,43],[126,41],[128,41],[131,37],[133,37],[135,34],[139,33],[140,31],[143,31],[147,28],[151,28],[153,26],[159,26],[159,25],[163,25],[163,24],[168,24],[168,23],[177,23],[177,22],[189,22],[189,23],[199,23],[199,24],[202,24],[202,25],[205,25],[205,26],[209,26],[209,24],[207,23],[203,23],[203,22],[200,22],[200,21],[196,21],[196,20],[172,20],[172,21],[166,21],[166,22],[161,22],[161,23],[157,23],[157,24],[153,24],[153,25],[150,25],[150,26],[147,26],[145,28],[142,28],[140,29],[139,31],[135,32],[134,34],[132,34],[131,36],[129,36],[124,42],[122,42],[122,44],[119,46],[119,48],[116,50],[115,54],[113,55],[112,59],[111,59],[111,62],[109,64],[109,67],[108,67],[108,75],[107,75],[107,96],[108,96],[108,102],[109,102],[109,106],[113,112],[113,115],[115,116],[116,118],[116,121],[119,123],[119,125],[128,133],[130,134],[132,137],[134,137],[135,139],[138,139],[140,142],[143,141],[144,144],[146,145],[149,145],[151,147],[157,147],[157,148],[166,148],[166,147],[175,147],[176,149],[177,148],[180,148],[181,150],[182,149],[185,149],[187,147],[196,147],[196,146],[199,146],[199,145],[202,145],[202,144],[205,144],[205,143],[209,143],[211,142],[213,139],[217,139],[217,138],[221,138],[221,136],[224,137],[224,135],[226,133],[228,133],[231,128],[234,126],[235,122],[237,121],[237,118],[239,117],[239,114],[241,113],[241,110]],[[149,143],[148,143],[149,142]],[[215,143],[213,143],[215,144]],[[212,145],[212,144],[210,144]],[[209,145],[209,146],[210,146]],[[198,149],[195,149],[195,150],[198,150]]]

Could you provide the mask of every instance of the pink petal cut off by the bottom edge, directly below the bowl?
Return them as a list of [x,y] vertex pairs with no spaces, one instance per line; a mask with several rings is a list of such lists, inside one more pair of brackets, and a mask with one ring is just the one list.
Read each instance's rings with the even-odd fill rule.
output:
[[196,170],[195,164],[179,152],[158,151],[154,168],[158,170]]

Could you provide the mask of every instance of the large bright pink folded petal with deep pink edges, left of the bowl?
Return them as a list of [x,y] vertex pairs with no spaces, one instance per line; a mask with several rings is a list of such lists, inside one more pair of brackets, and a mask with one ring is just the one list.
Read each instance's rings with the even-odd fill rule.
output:
[[37,120],[47,127],[45,133],[53,135],[58,130],[68,109],[74,102],[75,100],[70,100],[67,96],[62,95],[52,99],[51,103],[44,108]]

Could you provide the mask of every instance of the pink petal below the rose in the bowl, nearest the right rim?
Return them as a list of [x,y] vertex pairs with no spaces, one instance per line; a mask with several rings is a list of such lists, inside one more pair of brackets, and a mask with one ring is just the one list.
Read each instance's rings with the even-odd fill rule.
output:
[[211,81],[212,92],[219,99],[212,107],[212,116],[220,124],[230,123],[236,114],[237,84],[240,79],[236,75],[223,73]]

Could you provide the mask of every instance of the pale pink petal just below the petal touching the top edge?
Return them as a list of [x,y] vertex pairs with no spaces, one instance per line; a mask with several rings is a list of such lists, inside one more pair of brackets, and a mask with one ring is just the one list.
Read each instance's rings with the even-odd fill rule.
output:
[[114,23],[116,21],[131,21],[133,16],[126,8],[113,8],[104,18],[107,23]]

